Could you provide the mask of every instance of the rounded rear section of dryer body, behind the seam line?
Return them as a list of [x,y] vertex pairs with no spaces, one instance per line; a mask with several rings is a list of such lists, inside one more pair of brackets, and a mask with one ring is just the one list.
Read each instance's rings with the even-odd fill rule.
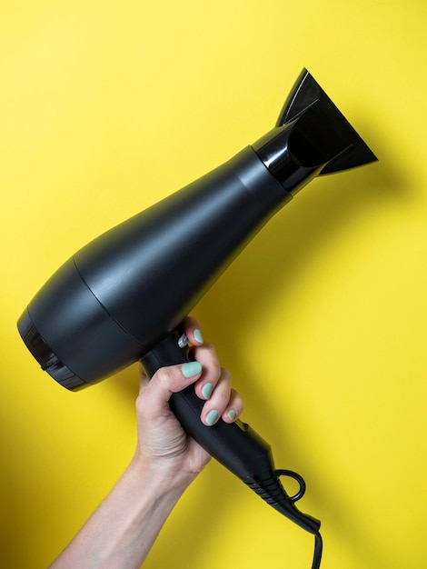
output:
[[[35,334],[25,334],[29,322],[38,332],[37,339]],[[18,329],[35,357],[41,356],[36,346],[43,340],[45,356],[38,360],[39,364],[68,389],[78,389],[114,374],[137,361],[142,353],[141,344],[94,297],[73,259],[35,295]]]

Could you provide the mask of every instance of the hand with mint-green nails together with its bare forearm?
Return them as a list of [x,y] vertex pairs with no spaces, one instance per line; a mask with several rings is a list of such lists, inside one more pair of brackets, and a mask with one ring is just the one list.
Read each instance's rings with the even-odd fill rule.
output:
[[184,330],[195,362],[162,368],[150,382],[143,375],[134,458],[51,569],[137,569],[143,564],[167,516],[210,458],[170,410],[173,393],[194,384],[205,401],[201,421],[206,425],[233,423],[242,413],[230,374],[220,367],[214,347],[203,343],[197,322],[187,318]]

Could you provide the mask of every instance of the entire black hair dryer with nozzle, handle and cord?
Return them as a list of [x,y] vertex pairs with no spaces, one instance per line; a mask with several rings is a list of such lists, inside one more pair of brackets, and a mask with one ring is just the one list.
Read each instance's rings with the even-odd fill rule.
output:
[[[94,239],[43,286],[18,322],[30,352],[71,390],[141,360],[150,376],[184,363],[180,323],[257,231],[317,175],[376,160],[305,69],[277,124],[254,145],[191,185]],[[299,474],[274,470],[270,447],[247,424],[200,421],[190,387],[171,407],[188,434],[268,504],[316,535],[296,506]],[[290,496],[279,477],[300,484]]]

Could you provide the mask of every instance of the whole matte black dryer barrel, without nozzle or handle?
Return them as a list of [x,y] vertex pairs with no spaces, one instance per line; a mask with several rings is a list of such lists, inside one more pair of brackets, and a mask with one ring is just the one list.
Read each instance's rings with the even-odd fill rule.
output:
[[18,323],[70,389],[140,359],[291,198],[251,146],[81,249]]

